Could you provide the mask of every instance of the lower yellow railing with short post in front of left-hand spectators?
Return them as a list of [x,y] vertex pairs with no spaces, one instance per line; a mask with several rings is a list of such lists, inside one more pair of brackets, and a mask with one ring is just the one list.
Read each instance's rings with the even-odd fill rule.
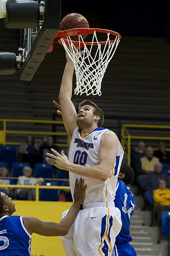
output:
[[2,185],[0,184],[0,188],[31,188],[35,189],[35,201],[39,201],[39,189],[70,189],[67,186],[40,186],[38,184],[32,185]]

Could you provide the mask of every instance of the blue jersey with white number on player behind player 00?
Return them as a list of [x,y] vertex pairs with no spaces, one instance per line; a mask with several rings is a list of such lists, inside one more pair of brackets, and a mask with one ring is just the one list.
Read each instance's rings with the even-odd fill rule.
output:
[[118,245],[130,242],[132,240],[129,234],[130,217],[133,215],[135,199],[131,191],[120,180],[117,180],[117,190],[115,194],[114,204],[115,207],[117,207],[121,212],[122,222],[121,230],[115,238],[115,244]]

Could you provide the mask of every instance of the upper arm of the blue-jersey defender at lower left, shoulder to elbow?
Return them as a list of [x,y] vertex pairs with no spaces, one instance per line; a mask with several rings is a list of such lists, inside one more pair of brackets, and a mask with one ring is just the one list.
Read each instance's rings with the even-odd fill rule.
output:
[[62,223],[44,222],[37,218],[23,217],[24,226],[29,234],[36,233],[44,236],[62,236],[66,235],[68,230]]

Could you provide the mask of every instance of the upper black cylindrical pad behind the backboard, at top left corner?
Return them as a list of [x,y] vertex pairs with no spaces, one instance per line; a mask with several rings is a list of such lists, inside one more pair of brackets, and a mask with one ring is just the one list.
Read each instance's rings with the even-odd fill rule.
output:
[[4,25],[9,29],[36,28],[39,4],[35,1],[7,1]]

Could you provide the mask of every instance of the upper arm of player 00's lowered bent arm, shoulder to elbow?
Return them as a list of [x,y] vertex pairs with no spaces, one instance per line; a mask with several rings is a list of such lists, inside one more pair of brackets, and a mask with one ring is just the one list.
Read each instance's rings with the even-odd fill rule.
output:
[[105,170],[103,180],[106,180],[110,175],[110,171],[114,167],[118,141],[113,133],[106,132],[101,136],[100,142],[99,165],[103,170]]

